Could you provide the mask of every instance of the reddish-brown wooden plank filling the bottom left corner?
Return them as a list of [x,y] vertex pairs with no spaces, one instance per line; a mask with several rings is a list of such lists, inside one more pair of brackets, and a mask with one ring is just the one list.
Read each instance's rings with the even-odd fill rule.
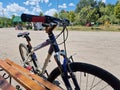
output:
[[16,90],[7,80],[0,75],[0,90]]

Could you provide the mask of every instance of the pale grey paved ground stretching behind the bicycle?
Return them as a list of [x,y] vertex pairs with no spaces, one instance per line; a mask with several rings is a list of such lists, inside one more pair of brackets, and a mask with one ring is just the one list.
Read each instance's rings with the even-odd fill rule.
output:
[[[17,38],[19,32],[23,31],[0,29],[0,59],[9,58],[20,64],[18,45],[25,40]],[[44,31],[29,32],[33,45],[47,39],[47,34]],[[57,33],[59,31],[55,31],[55,34]],[[58,41],[60,42],[61,38]],[[48,47],[36,52],[40,63],[43,63],[47,49]],[[120,79],[120,32],[69,31],[67,51],[68,55],[75,54],[75,61],[95,64],[105,68]],[[49,71],[55,65],[55,62],[51,60],[48,66]]]

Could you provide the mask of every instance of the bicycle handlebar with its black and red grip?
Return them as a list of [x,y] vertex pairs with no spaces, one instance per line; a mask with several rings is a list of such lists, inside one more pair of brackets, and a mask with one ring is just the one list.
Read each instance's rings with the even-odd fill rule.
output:
[[70,21],[67,19],[59,19],[52,16],[37,16],[30,14],[22,14],[21,19],[23,22],[42,22],[42,23],[62,23],[62,24],[70,24]]

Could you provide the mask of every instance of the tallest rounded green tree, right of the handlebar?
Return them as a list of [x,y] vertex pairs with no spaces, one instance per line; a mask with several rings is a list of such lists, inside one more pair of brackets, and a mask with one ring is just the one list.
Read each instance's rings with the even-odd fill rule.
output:
[[[87,22],[96,22],[104,15],[105,3],[96,0],[80,0],[76,7],[77,19],[79,17],[81,24]],[[78,20],[77,20],[78,21]]]

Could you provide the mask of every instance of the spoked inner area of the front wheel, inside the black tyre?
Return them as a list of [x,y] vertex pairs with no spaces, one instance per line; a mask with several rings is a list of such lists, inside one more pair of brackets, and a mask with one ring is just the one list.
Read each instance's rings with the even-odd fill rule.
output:
[[[75,75],[81,90],[114,90],[105,81],[97,78],[94,75],[84,72],[75,72]],[[72,89],[75,90],[72,80],[69,79],[69,81],[71,83]],[[54,83],[63,90],[67,90],[64,82],[61,79],[61,76],[58,76]]]

